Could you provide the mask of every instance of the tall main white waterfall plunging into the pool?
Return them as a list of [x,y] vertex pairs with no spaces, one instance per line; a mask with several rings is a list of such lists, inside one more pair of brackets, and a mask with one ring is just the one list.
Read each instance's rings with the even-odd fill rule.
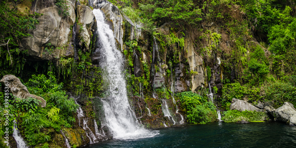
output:
[[123,55],[116,47],[113,31],[104,22],[104,16],[99,9],[93,10],[97,21],[100,67],[104,71],[103,78],[107,87],[106,99],[102,100],[108,126],[115,139],[138,139],[152,137],[157,132],[141,128],[131,110],[126,94],[126,83],[123,77]]

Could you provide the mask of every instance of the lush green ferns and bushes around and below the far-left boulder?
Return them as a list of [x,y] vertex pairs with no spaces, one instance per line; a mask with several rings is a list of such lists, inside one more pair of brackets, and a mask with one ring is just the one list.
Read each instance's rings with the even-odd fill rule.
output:
[[[54,142],[51,139],[51,132],[71,128],[75,122],[73,113],[76,112],[78,105],[73,98],[65,95],[65,91],[62,90],[63,83],[57,83],[56,77],[51,72],[47,75],[48,78],[43,74],[32,75],[32,78],[25,83],[31,94],[42,96],[46,100],[46,107],[38,106],[41,102],[36,99],[12,99],[14,96],[10,94],[9,133],[13,132],[13,120],[17,120],[17,125],[22,127],[20,132],[30,146]],[[3,96],[2,92],[0,94]],[[1,102],[4,100],[1,99]],[[3,108],[2,103],[1,108]],[[1,124],[4,124],[4,112],[1,112],[0,120]],[[4,127],[1,125],[1,136],[4,134]]]

